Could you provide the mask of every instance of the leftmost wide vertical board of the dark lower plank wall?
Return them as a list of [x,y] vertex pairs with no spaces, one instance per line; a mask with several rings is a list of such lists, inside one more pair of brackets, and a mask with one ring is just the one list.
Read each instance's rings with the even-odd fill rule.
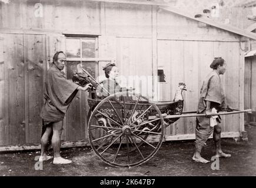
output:
[[6,34],[4,38],[4,61],[8,82],[6,88],[8,145],[23,145],[25,143],[24,37],[21,34]]

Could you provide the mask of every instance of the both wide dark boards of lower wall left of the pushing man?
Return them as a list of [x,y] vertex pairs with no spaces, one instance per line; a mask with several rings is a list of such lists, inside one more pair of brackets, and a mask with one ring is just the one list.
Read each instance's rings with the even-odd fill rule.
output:
[[[5,136],[1,145],[38,143],[42,122],[44,35],[2,34],[4,38]],[[3,141],[4,140],[4,141]]]

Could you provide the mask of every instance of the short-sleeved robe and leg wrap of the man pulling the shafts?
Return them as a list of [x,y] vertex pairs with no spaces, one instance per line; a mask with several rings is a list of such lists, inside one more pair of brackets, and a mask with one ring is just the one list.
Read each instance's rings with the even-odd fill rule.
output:
[[[205,113],[206,100],[211,102],[211,109],[221,110],[225,107],[224,90],[221,85],[220,75],[213,70],[202,84],[200,99],[198,102],[197,113]],[[210,126],[210,118],[205,116],[197,117],[197,125],[195,127],[196,147],[202,149],[204,143],[214,131],[214,127]]]

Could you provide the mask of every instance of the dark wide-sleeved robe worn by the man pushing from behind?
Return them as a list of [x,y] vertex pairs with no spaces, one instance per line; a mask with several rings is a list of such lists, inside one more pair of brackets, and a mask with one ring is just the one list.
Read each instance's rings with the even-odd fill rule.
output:
[[52,64],[47,72],[44,90],[44,105],[41,117],[44,122],[61,121],[77,94],[78,85],[67,80],[65,74]]

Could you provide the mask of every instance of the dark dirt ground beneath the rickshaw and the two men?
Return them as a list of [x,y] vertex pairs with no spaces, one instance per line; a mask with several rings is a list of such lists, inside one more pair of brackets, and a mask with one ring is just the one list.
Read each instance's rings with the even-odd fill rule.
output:
[[[74,163],[54,165],[44,162],[43,170],[35,170],[39,151],[0,153],[0,176],[256,176],[256,126],[246,125],[248,142],[222,139],[222,149],[232,156],[220,159],[220,170],[211,163],[192,161],[194,140],[165,142],[147,163],[137,167],[112,167],[102,162],[90,147],[62,149],[63,157]],[[211,160],[214,142],[208,140],[202,156]]]

